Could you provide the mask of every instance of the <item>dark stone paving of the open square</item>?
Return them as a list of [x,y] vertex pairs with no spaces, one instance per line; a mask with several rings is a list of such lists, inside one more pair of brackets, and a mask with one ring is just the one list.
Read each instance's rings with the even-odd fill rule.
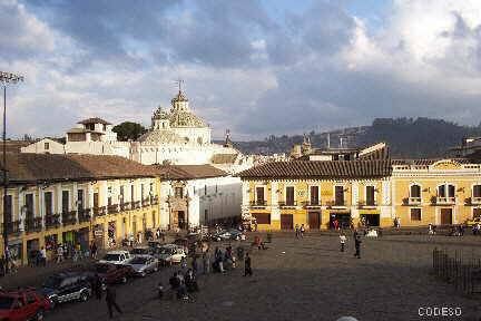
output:
[[[481,257],[480,244],[473,236],[363,239],[357,260],[352,239],[340,253],[333,235],[274,234],[268,250],[252,251],[254,276],[243,276],[243,264],[224,275],[200,275],[200,292],[188,302],[156,298],[157,282],[167,285],[177,268],[118,285],[124,314],[116,320],[480,320],[480,298],[464,298],[430,273],[434,246]],[[462,315],[421,318],[422,307],[459,307]],[[58,308],[46,320],[108,319],[105,301]]]

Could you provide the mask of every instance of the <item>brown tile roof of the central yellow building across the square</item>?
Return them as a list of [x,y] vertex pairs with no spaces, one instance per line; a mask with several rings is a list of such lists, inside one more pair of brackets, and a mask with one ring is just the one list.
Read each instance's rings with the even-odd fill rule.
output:
[[370,178],[386,177],[389,159],[273,162],[238,174],[242,178]]

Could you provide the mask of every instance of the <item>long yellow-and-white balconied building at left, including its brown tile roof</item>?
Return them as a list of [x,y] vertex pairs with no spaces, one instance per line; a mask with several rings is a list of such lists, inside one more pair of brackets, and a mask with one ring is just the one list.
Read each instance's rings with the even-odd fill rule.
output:
[[19,263],[41,247],[48,256],[62,243],[106,247],[160,224],[160,182],[149,166],[118,156],[8,154],[7,169],[7,224],[0,220]]

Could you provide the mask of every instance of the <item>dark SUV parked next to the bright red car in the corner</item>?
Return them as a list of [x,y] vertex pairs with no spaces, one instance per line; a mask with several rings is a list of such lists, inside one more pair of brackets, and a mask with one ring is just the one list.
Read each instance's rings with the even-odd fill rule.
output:
[[50,300],[50,307],[53,309],[58,303],[87,301],[91,295],[91,288],[84,273],[62,272],[47,278],[41,293]]

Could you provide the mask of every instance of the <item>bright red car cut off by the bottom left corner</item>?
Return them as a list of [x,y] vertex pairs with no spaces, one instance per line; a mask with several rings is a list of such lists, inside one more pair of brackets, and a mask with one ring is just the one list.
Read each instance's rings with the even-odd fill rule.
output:
[[50,301],[31,289],[0,292],[0,320],[43,320]]

